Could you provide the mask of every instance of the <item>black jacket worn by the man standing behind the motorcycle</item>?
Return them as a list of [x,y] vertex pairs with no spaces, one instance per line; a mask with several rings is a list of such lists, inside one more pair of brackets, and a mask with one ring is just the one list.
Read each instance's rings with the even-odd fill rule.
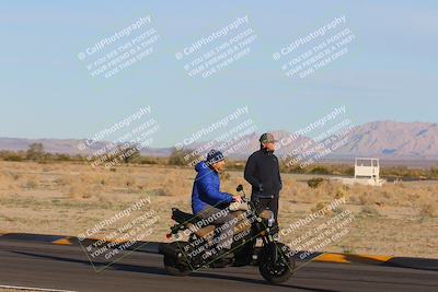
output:
[[264,149],[247,159],[244,177],[253,187],[252,198],[277,197],[283,188],[278,159]]

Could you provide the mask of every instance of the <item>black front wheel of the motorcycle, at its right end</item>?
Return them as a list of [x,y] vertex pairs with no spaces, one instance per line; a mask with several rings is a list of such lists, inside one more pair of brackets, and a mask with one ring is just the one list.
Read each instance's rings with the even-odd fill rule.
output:
[[263,278],[272,284],[283,283],[292,276],[295,269],[295,260],[288,256],[290,249],[283,243],[276,243],[276,252],[278,253],[277,262],[273,258],[273,255],[266,253],[261,257],[258,270]]

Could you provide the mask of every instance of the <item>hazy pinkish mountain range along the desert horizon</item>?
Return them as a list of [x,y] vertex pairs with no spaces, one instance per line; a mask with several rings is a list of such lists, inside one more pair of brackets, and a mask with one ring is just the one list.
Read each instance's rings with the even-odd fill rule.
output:
[[[286,141],[291,132],[273,131],[277,139]],[[242,137],[247,141],[242,150],[234,153],[234,156],[247,156],[258,149],[260,133],[251,133]],[[326,139],[331,139],[330,137]],[[0,150],[26,150],[31,143],[41,142],[45,151],[66,154],[90,154],[107,145],[110,142],[100,141],[92,148],[80,151],[78,145],[85,140],[73,139],[19,139],[0,138]],[[322,140],[324,141],[324,140]],[[324,156],[325,160],[347,160],[356,156],[372,156],[384,160],[438,160],[438,125],[430,122],[399,122],[399,121],[373,121],[361,126],[353,127],[346,135],[346,143],[336,151]],[[197,142],[191,145],[196,149],[206,142]],[[278,154],[290,153],[303,144],[315,144],[309,137],[296,137],[293,141],[283,145]],[[172,148],[145,148],[143,155],[168,156]]]

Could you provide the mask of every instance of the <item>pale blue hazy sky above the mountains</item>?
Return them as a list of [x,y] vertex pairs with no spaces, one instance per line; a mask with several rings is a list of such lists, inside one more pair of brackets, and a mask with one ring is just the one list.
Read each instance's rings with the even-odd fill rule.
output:
[[[297,130],[342,105],[355,124],[437,122],[438,3],[366,2],[2,1],[0,137],[87,138],[147,105],[161,126],[157,147],[245,105],[260,131]],[[110,79],[91,77],[78,54],[148,15],[145,27],[160,36],[153,52]],[[245,15],[257,36],[250,54],[189,77],[189,58],[175,54]],[[339,27],[355,35],[348,52],[304,79],[286,77],[281,60],[293,54],[273,54],[343,15]]]

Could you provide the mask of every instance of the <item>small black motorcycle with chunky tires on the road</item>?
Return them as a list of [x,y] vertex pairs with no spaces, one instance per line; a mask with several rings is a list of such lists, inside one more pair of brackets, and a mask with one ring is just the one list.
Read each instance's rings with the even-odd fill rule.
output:
[[[205,220],[172,208],[172,220],[176,223],[166,236],[176,241],[159,247],[170,275],[187,276],[200,268],[252,265],[258,266],[263,278],[273,284],[285,282],[292,276],[296,262],[290,248],[278,242],[274,213],[268,209],[257,210],[257,201],[246,199],[242,185],[237,191],[243,192],[242,202],[228,207],[237,220],[232,231],[231,261],[222,262],[218,258],[222,255],[217,252],[217,226],[199,224]],[[188,240],[180,241],[182,235]]]

